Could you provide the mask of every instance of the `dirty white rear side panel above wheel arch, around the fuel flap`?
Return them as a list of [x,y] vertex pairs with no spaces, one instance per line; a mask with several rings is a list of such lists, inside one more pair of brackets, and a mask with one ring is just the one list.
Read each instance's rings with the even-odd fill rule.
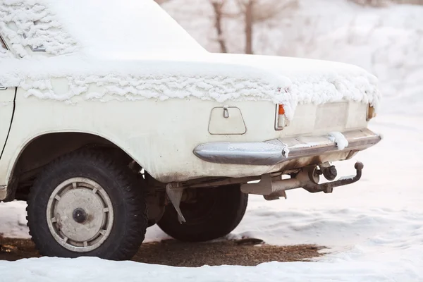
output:
[[[310,159],[288,161],[274,166],[212,164],[202,161],[192,150],[207,142],[258,142],[295,135],[295,128],[275,130],[272,102],[213,102],[197,98],[145,99],[109,102],[82,100],[75,104],[54,99],[25,97],[18,89],[16,114],[4,157],[0,160],[0,185],[6,185],[20,152],[35,137],[47,133],[80,132],[99,135],[121,147],[154,178],[168,183],[203,176],[259,176],[286,167],[301,167]],[[238,107],[246,132],[212,135],[209,120],[216,107]],[[301,111],[298,111],[300,114]],[[222,112],[223,114],[223,112]],[[314,124],[314,119],[303,123]],[[328,121],[329,122],[329,121]],[[364,122],[365,127],[365,122]],[[310,130],[308,135],[321,132]],[[46,152],[47,153],[47,152]],[[348,152],[335,152],[321,161],[336,161]]]

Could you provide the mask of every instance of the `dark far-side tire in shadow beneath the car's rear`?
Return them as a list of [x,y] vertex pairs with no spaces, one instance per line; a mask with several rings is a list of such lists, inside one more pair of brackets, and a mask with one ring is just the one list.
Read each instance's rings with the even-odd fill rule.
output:
[[185,223],[179,223],[172,204],[166,206],[157,223],[162,231],[180,241],[204,242],[228,235],[243,219],[248,195],[239,185],[197,188],[195,193],[195,202],[180,203]]

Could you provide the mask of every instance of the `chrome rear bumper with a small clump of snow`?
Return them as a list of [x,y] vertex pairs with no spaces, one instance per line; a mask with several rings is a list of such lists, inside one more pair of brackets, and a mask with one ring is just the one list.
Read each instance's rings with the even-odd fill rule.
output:
[[[348,146],[341,151],[362,151],[376,145],[381,136],[365,128],[343,133]],[[249,164],[272,166],[283,161],[338,152],[340,149],[329,135],[288,137],[264,142],[211,142],[198,145],[194,154],[216,164]]]

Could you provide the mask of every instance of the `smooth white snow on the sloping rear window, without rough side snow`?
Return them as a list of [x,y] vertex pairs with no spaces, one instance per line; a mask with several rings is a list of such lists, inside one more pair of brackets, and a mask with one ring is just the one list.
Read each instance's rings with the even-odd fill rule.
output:
[[133,58],[144,53],[204,49],[152,0],[49,0],[85,51]]

